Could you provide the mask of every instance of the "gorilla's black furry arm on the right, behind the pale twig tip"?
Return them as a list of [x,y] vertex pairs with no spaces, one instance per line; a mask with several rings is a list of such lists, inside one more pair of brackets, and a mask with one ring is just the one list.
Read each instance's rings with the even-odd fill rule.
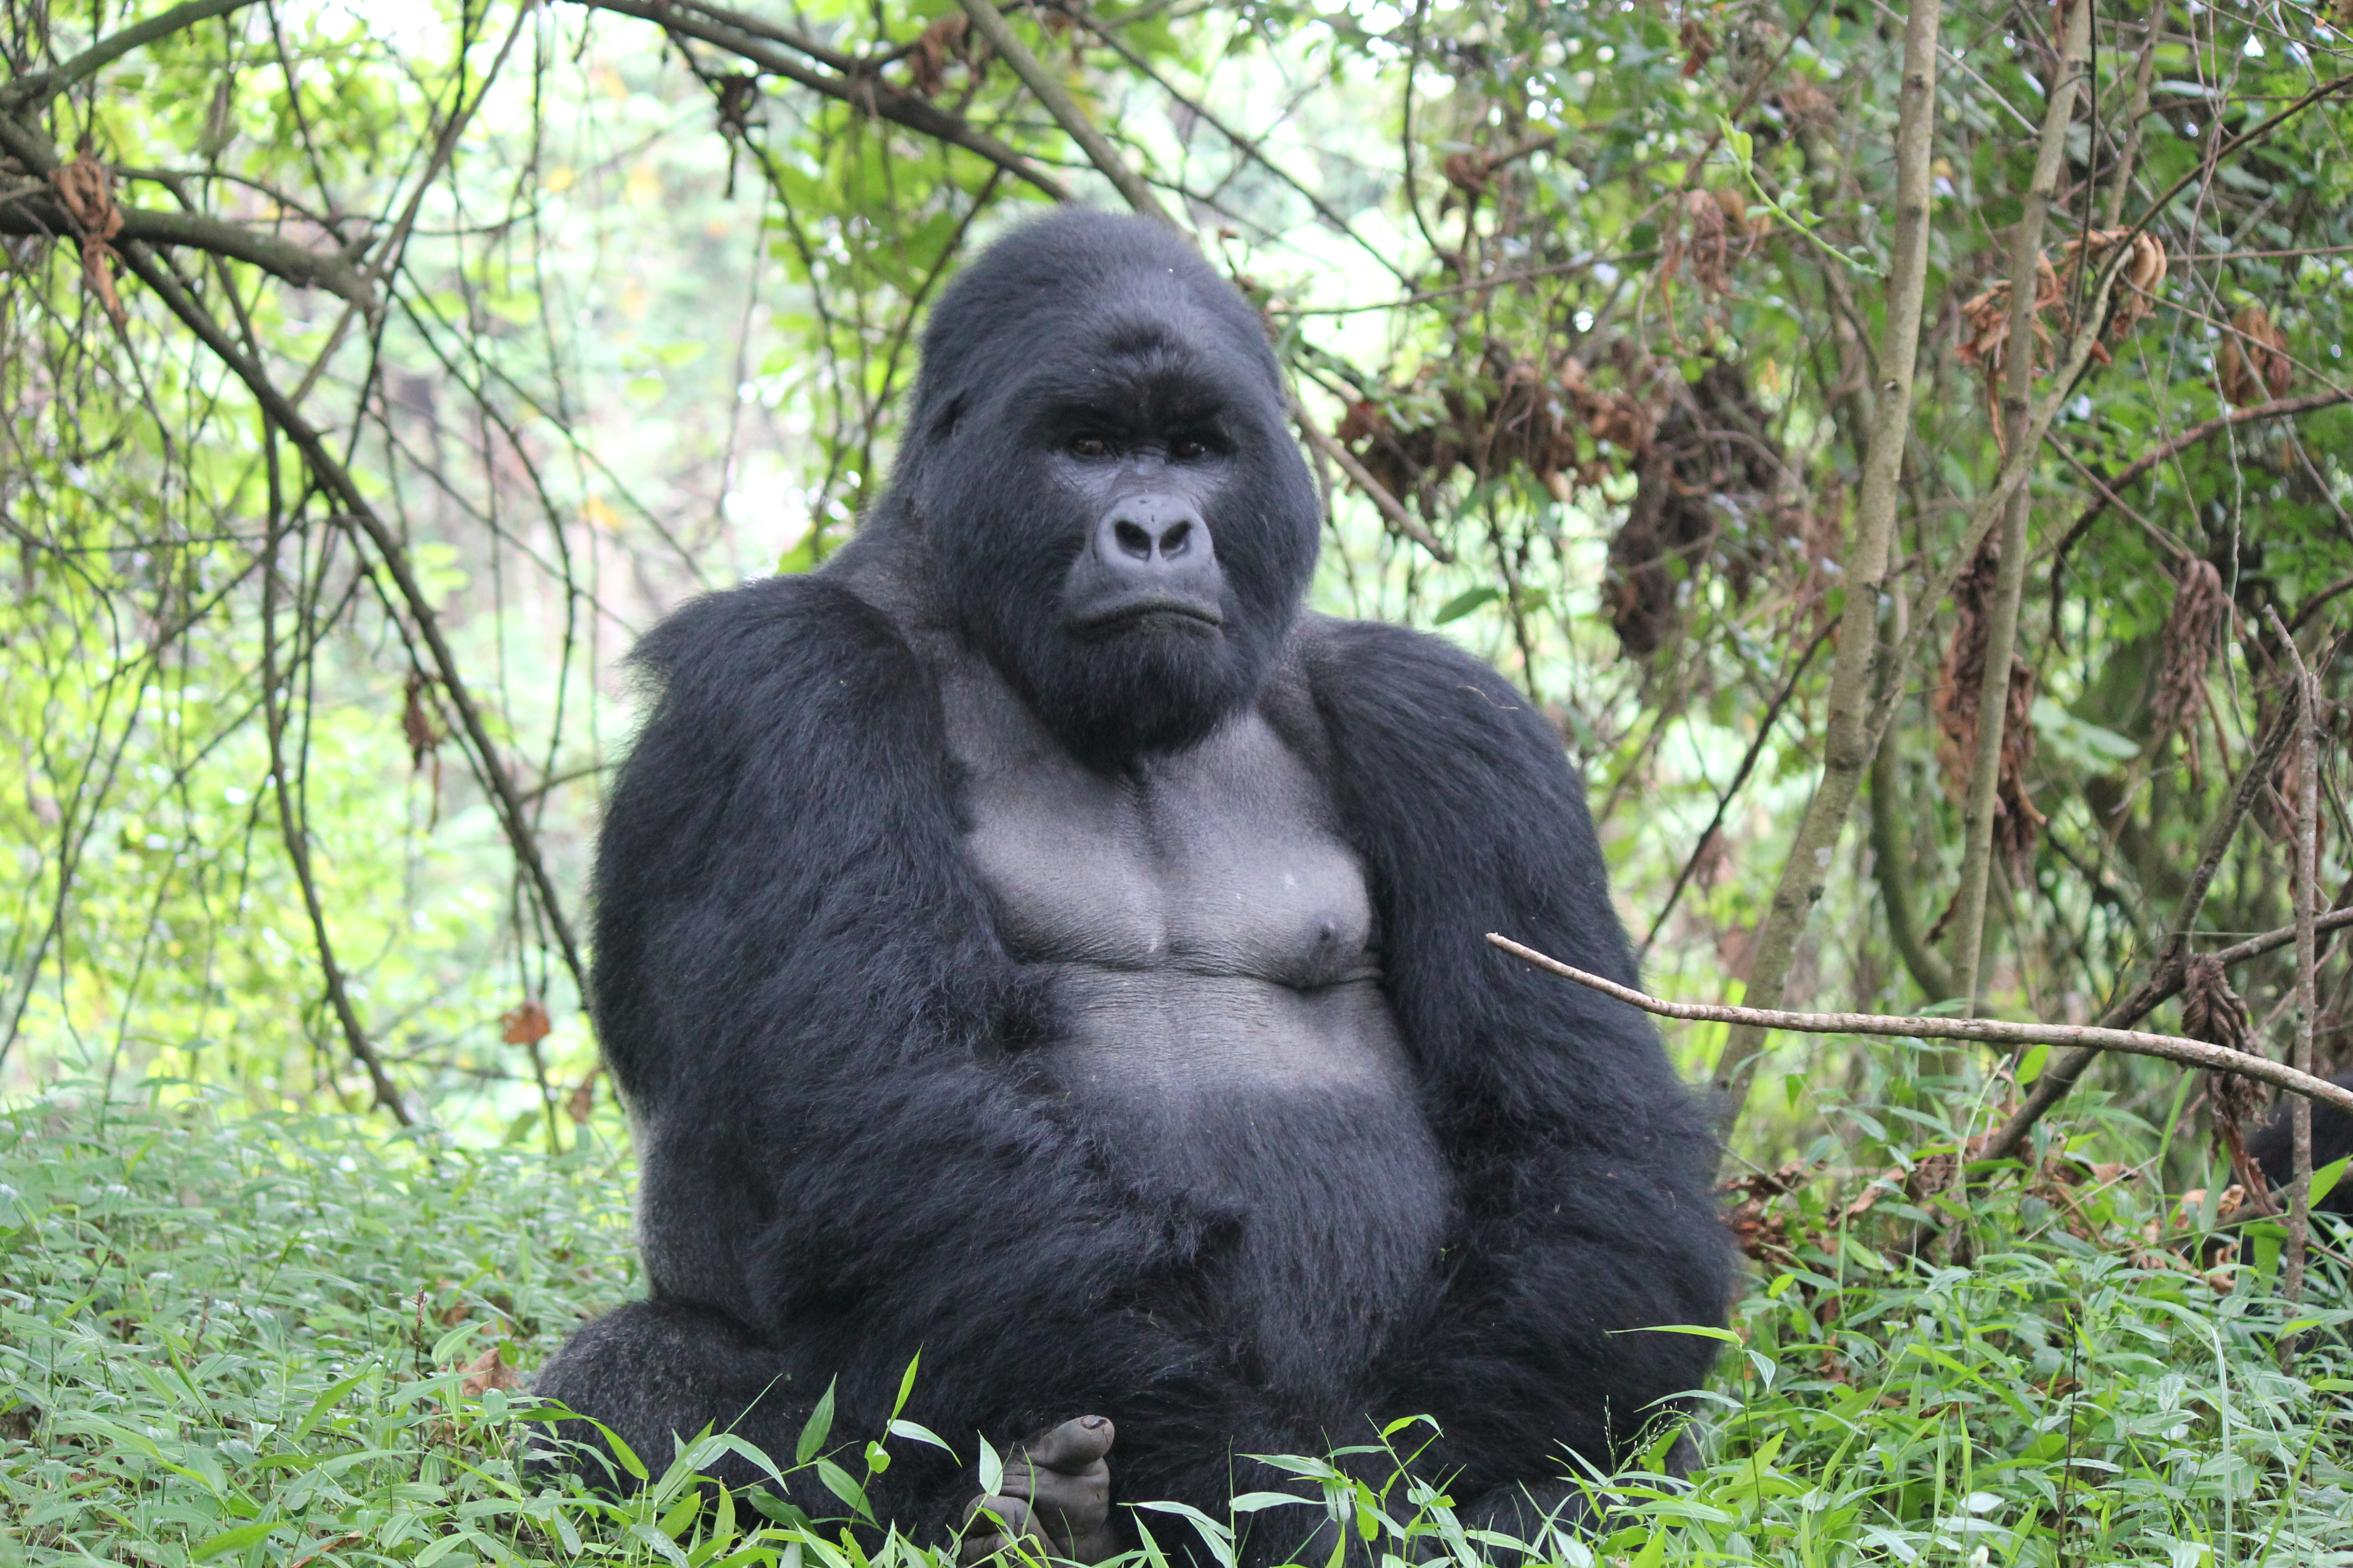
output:
[[1635,983],[1546,719],[1433,637],[1325,621],[1306,642],[1391,1004],[1461,1182],[1449,1288],[1405,1335],[1395,1413],[1442,1422],[1468,1500],[1558,1474],[1553,1441],[1624,1453],[1652,1401],[1701,1382],[1711,1340],[1624,1331],[1725,1321],[1713,1145],[1638,1011],[1485,940]]

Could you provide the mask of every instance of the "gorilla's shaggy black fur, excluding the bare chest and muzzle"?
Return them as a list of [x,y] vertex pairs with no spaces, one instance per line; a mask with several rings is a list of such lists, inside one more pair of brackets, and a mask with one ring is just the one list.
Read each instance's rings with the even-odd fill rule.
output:
[[[1106,651],[1054,616],[1087,517],[1038,404],[1101,397],[1101,367],[1068,346],[1106,322],[1153,367],[1115,393],[1139,425],[1217,425],[1214,644]],[[1518,1519],[1520,1488],[1558,1502],[1565,1448],[1607,1465],[1699,1385],[1708,1340],[1642,1328],[1725,1314],[1701,1121],[1640,1013],[1482,940],[1635,978],[1584,792],[1480,663],[1301,616],[1315,527],[1259,322],[1176,240],[1059,216],[958,280],[861,538],[816,576],[689,604],[640,651],[659,698],[607,804],[593,1001],[635,1119],[654,1300],[584,1328],[541,1392],[656,1467],[704,1422],[791,1455],[828,1380],[835,1432],[875,1434],[920,1349],[908,1415],[967,1465],[894,1443],[878,1507],[936,1537],[974,1493],[974,1432],[1002,1448],[1111,1415],[1118,1502],[1224,1516],[1238,1481],[1278,1483],[1238,1455],[1322,1453],[1426,1413],[1442,1439],[1421,1469]],[[1233,1206],[1186,1171],[1115,1175],[1118,1131],[1049,1093],[1028,1051],[1059,1023],[962,851],[936,665],[878,583],[946,597],[1080,757],[1186,745],[1257,703],[1327,783],[1372,886],[1414,1110],[1452,1171],[1449,1192],[1414,1194],[1452,1218],[1409,1286],[1374,1260],[1221,1272]],[[1384,1173],[1407,1166],[1355,1126],[1334,1103],[1219,1135],[1294,1150],[1299,1234],[1377,1234],[1402,1201]],[[1372,1178],[1318,1180],[1318,1150]],[[1240,1354],[1238,1321],[1289,1342]],[[1327,1385],[1282,1366],[1362,1371]],[[798,1500],[833,1512],[814,1488]],[[1249,1554],[1294,1544],[1278,1535],[1299,1514],[1259,1514]]]

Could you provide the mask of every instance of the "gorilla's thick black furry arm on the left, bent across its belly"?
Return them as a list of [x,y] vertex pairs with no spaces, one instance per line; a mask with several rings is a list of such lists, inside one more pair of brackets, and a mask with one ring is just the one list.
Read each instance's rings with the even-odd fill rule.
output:
[[[654,1295],[791,1345],[769,1403],[840,1371],[845,1436],[875,1434],[918,1345],[911,1413],[960,1448],[1172,1371],[1181,1347],[1115,1288],[1195,1237],[1118,1190],[1021,1065],[1038,999],[967,870],[901,637],[784,578],[687,607],[640,663],[659,701],[607,806],[593,990]],[[974,1382],[1007,1366],[1035,1378]]]

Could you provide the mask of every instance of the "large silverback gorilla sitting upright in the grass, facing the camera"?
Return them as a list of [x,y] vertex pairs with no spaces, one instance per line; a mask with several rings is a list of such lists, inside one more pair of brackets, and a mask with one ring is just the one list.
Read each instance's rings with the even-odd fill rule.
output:
[[878,1514],[955,1533],[979,1434],[1028,1453],[991,1512],[1099,1561],[1118,1502],[1224,1519],[1285,1483],[1247,1455],[1402,1415],[1534,1528],[1699,1385],[1640,1331],[1725,1314],[1704,1126],[1640,1013],[1482,940],[1633,980],[1584,792],[1473,658],[1301,609],[1285,409],[1176,235],[1031,223],[939,303],[859,536],[645,639],[593,1006],[652,1300],[541,1394],[656,1467],[791,1455],[920,1347],[967,1465],[901,1455]]

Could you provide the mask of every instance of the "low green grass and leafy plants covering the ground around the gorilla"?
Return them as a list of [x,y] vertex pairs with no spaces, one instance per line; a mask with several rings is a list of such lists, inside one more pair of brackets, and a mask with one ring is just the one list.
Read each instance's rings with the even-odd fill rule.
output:
[[[1737,1312],[1704,1467],[1621,1479],[1612,1535],[1539,1554],[2353,1566],[2346,1314],[2301,1314],[2325,1328],[2282,1373],[2297,1314],[2254,1269],[2217,1288],[2181,1265],[2158,1194],[2038,1192],[1981,1204],[1965,1265],[1901,1258],[1901,1192],[1842,1234],[1828,1197],[1784,1199],[1795,1265]],[[0,1114],[0,1563],[929,1563],[706,1497],[687,1465],[626,1507],[518,1479],[522,1401],[466,1396],[459,1368],[494,1345],[532,1368],[631,1291],[626,1194],[612,1159],[348,1119],[71,1093]],[[873,1436],[779,1460],[831,1455],[849,1486]],[[1402,1481],[1334,1497],[1405,1559],[1513,1556]]]

